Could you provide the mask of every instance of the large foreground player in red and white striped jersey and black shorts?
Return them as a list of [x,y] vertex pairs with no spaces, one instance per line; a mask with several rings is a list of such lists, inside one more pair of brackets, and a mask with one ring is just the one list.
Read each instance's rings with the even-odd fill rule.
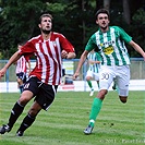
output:
[[28,113],[21,123],[16,132],[22,136],[24,131],[29,128],[41,109],[48,110],[57,93],[62,74],[62,58],[75,58],[74,47],[60,33],[52,32],[51,14],[43,14],[38,24],[41,35],[29,39],[20,50],[17,50],[9,62],[0,70],[2,77],[7,69],[22,56],[36,57],[36,67],[29,73],[29,78],[24,85],[21,97],[12,108],[9,122],[0,128],[0,133],[10,132],[22,114],[26,104],[34,98],[34,102]]

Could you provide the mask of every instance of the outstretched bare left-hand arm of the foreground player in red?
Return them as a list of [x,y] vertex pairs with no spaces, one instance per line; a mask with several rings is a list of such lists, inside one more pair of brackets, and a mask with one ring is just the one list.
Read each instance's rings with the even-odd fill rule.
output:
[[21,58],[19,51],[16,51],[8,61],[8,63],[0,70],[0,78],[5,74],[9,67]]

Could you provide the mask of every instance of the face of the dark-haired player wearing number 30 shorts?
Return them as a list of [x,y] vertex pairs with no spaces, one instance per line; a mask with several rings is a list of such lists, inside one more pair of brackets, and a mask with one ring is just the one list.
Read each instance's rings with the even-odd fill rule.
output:
[[109,19],[106,13],[98,14],[98,19],[96,20],[96,23],[99,25],[100,29],[107,31],[109,25]]

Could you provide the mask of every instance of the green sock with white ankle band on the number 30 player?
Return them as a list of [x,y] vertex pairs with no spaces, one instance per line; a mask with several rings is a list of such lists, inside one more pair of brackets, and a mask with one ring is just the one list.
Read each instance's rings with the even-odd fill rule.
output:
[[100,111],[102,100],[99,98],[95,98],[92,105],[92,111],[89,114],[89,124],[94,126],[94,123],[96,121],[96,118]]

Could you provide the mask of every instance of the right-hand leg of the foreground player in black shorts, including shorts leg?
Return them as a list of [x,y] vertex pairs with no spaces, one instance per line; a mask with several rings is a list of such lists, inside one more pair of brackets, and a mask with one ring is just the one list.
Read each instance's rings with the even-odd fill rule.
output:
[[35,98],[33,106],[31,107],[27,116],[21,123],[20,129],[16,132],[17,136],[22,136],[24,131],[28,129],[36,119],[36,116],[41,109],[47,110],[55,99],[58,86],[41,84],[39,92]]

